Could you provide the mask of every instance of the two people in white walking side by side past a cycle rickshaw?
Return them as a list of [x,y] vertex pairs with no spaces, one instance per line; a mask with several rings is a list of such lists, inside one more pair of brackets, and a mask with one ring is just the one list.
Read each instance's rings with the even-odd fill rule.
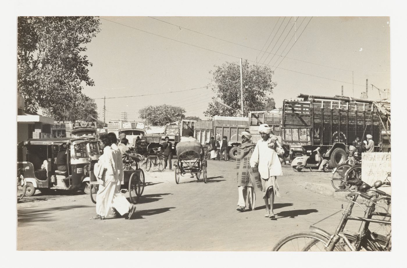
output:
[[[125,137],[123,139],[122,141],[125,142]],[[127,212],[129,213],[128,219],[130,219],[136,211],[136,206],[129,203],[120,192],[120,185],[123,180],[123,155],[128,154],[128,152],[123,148],[120,150],[119,146],[123,146],[120,144],[118,146],[117,142],[114,133],[100,136],[99,146],[103,150],[103,154],[94,166],[94,174],[98,180],[99,188],[96,194],[96,216],[92,217],[91,220],[104,220],[107,216],[118,217],[119,214],[123,216]],[[110,211],[112,214],[109,214]]]

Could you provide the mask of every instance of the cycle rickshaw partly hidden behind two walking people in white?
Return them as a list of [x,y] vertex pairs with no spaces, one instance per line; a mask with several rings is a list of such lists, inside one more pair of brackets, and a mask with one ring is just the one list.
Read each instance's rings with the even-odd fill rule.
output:
[[[139,155],[139,157],[141,157]],[[140,169],[138,161],[124,160],[123,161],[123,178],[120,186],[122,193],[129,192],[130,202],[136,204],[138,198],[142,195],[145,186],[144,172]],[[99,184],[96,177],[90,181],[91,192],[90,199],[96,204],[96,193],[98,192]]]

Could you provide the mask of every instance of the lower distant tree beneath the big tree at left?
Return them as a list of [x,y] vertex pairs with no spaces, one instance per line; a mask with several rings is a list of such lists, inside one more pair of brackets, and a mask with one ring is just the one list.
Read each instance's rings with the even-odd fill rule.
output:
[[[98,119],[97,105],[95,101],[83,94],[78,95],[66,107],[44,109],[46,115],[55,120],[62,121],[77,121],[83,120],[87,122]],[[93,118],[92,118],[93,117]],[[103,122],[102,122],[103,124]]]

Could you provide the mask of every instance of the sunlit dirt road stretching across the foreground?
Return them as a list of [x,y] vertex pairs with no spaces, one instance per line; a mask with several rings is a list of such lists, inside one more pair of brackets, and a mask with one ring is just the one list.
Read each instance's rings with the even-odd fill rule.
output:
[[[88,195],[38,192],[18,204],[18,250],[269,251],[284,235],[306,231],[346,205],[300,186],[329,174],[297,173],[284,166],[276,219],[263,217],[261,193],[256,210],[238,212],[235,166],[232,161],[208,161],[206,184],[183,176],[177,185],[173,171],[147,172],[147,186],[131,220],[89,220],[95,205]],[[339,217],[318,226],[333,231]]]

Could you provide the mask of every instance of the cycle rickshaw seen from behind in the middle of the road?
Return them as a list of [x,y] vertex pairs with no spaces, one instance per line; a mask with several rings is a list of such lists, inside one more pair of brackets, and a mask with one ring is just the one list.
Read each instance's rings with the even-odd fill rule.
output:
[[175,166],[175,182],[179,183],[179,177],[185,174],[196,176],[197,180],[202,174],[206,183],[207,162],[204,158],[204,147],[199,142],[178,142],[175,147],[177,151],[177,161]]

